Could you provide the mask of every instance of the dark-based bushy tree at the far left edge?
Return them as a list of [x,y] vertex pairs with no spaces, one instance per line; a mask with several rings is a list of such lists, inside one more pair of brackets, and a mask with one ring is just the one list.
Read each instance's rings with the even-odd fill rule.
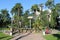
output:
[[11,23],[10,15],[6,9],[1,10],[0,17],[1,17],[3,27],[8,26]]

